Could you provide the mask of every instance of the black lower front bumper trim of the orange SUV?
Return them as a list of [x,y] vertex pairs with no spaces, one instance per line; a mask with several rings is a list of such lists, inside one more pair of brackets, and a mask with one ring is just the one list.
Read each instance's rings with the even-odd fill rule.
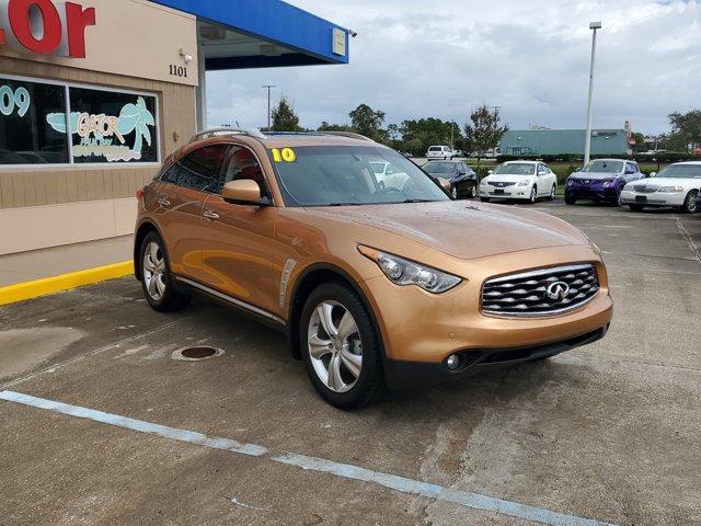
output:
[[450,370],[445,363],[427,364],[387,359],[384,362],[384,378],[390,389],[412,389],[420,386],[458,380],[486,370],[533,362],[588,345],[601,340],[608,330],[609,324],[606,324],[591,332],[545,345],[521,348],[470,350],[459,353],[463,363],[459,370]]

